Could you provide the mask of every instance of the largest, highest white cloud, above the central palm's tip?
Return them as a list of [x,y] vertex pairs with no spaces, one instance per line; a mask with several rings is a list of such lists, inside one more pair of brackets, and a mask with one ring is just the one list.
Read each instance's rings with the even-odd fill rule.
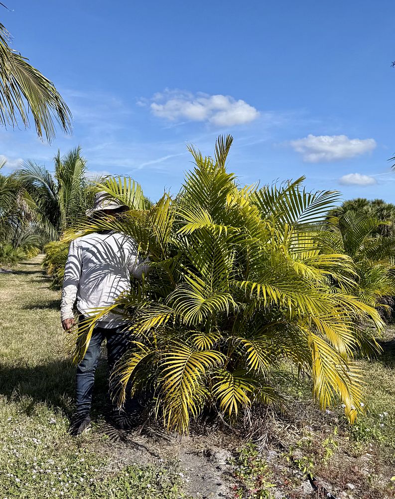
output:
[[[144,99],[139,105],[146,105]],[[254,121],[259,111],[244,100],[230,95],[209,95],[202,92],[192,94],[177,90],[156,93],[151,99],[152,114],[169,121],[207,121],[215,126],[243,125]]]

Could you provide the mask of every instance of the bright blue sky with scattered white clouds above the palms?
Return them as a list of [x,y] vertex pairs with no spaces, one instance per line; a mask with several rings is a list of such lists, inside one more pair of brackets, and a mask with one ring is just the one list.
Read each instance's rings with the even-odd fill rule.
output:
[[54,81],[73,135],[0,129],[8,169],[81,145],[92,172],[177,192],[186,144],[231,133],[240,182],[395,202],[392,0],[8,0],[13,48]]

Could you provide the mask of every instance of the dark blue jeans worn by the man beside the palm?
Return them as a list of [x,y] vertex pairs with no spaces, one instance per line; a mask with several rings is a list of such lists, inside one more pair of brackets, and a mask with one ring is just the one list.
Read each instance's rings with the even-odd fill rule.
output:
[[[80,320],[83,317],[80,318]],[[95,372],[99,362],[101,346],[107,339],[107,361],[110,373],[115,363],[122,357],[128,347],[125,326],[117,328],[95,327],[88,350],[82,361],[77,365],[76,399],[77,412],[86,413],[91,409]]]

